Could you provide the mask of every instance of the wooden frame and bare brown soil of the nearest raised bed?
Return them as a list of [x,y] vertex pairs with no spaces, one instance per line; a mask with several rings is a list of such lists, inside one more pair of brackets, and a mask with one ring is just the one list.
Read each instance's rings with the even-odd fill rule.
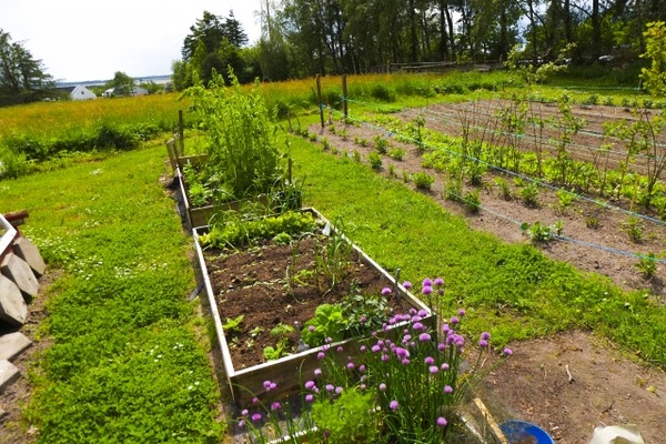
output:
[[[263,241],[238,250],[204,250],[201,236],[209,233],[209,228],[194,229],[194,244],[224,374],[232,396],[240,405],[248,404],[254,395],[261,396],[264,381],[275,382],[281,391],[290,392],[299,387],[300,374],[317,366],[321,346],[297,351],[296,331],[271,334],[276,326],[293,326],[295,322],[307,329],[307,321],[315,315],[317,306],[343,300],[350,303],[356,299],[360,305],[367,307],[369,304],[364,302],[366,299],[379,301],[382,290],[391,289],[386,297],[386,312],[425,310],[427,316],[423,322],[434,324],[434,316],[423,302],[397,284],[393,276],[342,233],[336,233],[335,228],[319,212],[312,209],[303,211],[315,218],[316,230],[300,239],[294,235],[291,243],[283,245]],[[332,235],[325,235],[324,232]],[[349,243],[351,256],[344,280],[331,285],[331,281],[324,276],[321,258],[326,243],[335,242],[332,240],[335,234]],[[327,248],[331,251],[331,245]],[[363,315],[362,310],[359,307],[355,313]],[[386,319],[375,319],[374,322],[381,325]],[[386,334],[392,334],[391,330]],[[354,337],[349,337],[352,335],[353,331],[349,331],[346,337],[329,345],[342,346],[345,354],[353,355],[357,346]],[[290,354],[266,362],[264,349],[270,346],[275,351],[282,337],[283,351]],[[309,337],[307,332],[303,337]]]

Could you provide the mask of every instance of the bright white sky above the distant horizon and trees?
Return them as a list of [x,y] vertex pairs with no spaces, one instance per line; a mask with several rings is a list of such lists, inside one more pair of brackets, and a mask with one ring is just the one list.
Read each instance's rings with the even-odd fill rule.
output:
[[0,29],[22,42],[57,81],[171,73],[203,11],[241,22],[259,40],[262,0],[0,0]]

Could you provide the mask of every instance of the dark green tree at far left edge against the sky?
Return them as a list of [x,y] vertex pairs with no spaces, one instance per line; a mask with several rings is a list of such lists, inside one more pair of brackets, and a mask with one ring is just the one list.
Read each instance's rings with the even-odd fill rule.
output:
[[41,60],[0,29],[0,107],[43,100],[53,95],[53,78]]

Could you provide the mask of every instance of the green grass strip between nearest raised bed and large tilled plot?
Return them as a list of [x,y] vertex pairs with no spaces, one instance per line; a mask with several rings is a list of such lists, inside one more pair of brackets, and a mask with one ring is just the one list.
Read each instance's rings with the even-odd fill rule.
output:
[[[568,329],[594,330],[644,360],[666,366],[666,307],[640,292],[552,261],[532,245],[505,244],[467,229],[431,199],[367,165],[292,142],[305,203],[341,218],[349,235],[402,278],[442,276],[450,303],[463,304],[472,331],[500,342]],[[343,196],[343,198],[341,198]],[[639,326],[639,327],[638,327]]]

